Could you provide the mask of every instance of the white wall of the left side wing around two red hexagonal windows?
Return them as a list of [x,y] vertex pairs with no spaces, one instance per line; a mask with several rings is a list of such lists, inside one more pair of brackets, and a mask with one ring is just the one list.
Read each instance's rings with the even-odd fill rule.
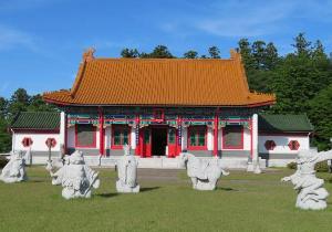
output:
[[52,148],[53,151],[60,151],[60,134],[32,134],[32,133],[14,133],[12,136],[13,150],[29,150],[29,147],[22,145],[24,137],[32,139],[32,151],[49,151],[45,144],[48,138],[55,138],[56,145]]

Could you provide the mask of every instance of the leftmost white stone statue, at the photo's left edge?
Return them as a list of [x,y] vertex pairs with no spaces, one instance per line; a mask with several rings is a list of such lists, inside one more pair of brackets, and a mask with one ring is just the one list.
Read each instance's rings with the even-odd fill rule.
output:
[[0,180],[7,183],[28,180],[25,172],[25,156],[23,156],[23,151],[11,152],[9,162],[2,169]]

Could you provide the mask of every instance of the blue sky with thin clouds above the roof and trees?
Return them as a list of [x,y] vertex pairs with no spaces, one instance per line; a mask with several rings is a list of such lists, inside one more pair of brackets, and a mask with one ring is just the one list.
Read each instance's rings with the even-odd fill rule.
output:
[[299,33],[332,52],[332,0],[0,0],[0,96],[70,88],[90,46],[96,56],[165,44],[180,56],[241,38],[272,41],[281,54]]

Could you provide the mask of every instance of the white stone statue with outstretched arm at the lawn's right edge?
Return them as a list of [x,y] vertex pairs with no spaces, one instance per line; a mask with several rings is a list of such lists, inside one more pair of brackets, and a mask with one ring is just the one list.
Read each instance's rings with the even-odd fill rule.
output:
[[332,150],[317,152],[301,150],[297,159],[298,170],[281,181],[291,181],[298,190],[295,207],[303,210],[322,210],[328,207],[329,192],[323,188],[324,180],[315,177],[314,165],[332,159]]

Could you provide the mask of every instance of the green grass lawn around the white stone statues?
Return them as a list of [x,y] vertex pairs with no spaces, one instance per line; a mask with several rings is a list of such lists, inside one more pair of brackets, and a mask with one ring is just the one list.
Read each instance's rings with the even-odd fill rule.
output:
[[[280,182],[291,172],[231,171],[216,191],[201,192],[191,189],[184,170],[173,172],[173,178],[139,170],[143,191],[117,194],[115,171],[102,169],[102,184],[92,199],[66,201],[61,187],[51,186],[44,168],[33,167],[28,168],[28,182],[0,183],[0,230],[331,231],[331,198],[324,211],[295,209],[292,186]],[[332,192],[331,183],[325,187]]]

